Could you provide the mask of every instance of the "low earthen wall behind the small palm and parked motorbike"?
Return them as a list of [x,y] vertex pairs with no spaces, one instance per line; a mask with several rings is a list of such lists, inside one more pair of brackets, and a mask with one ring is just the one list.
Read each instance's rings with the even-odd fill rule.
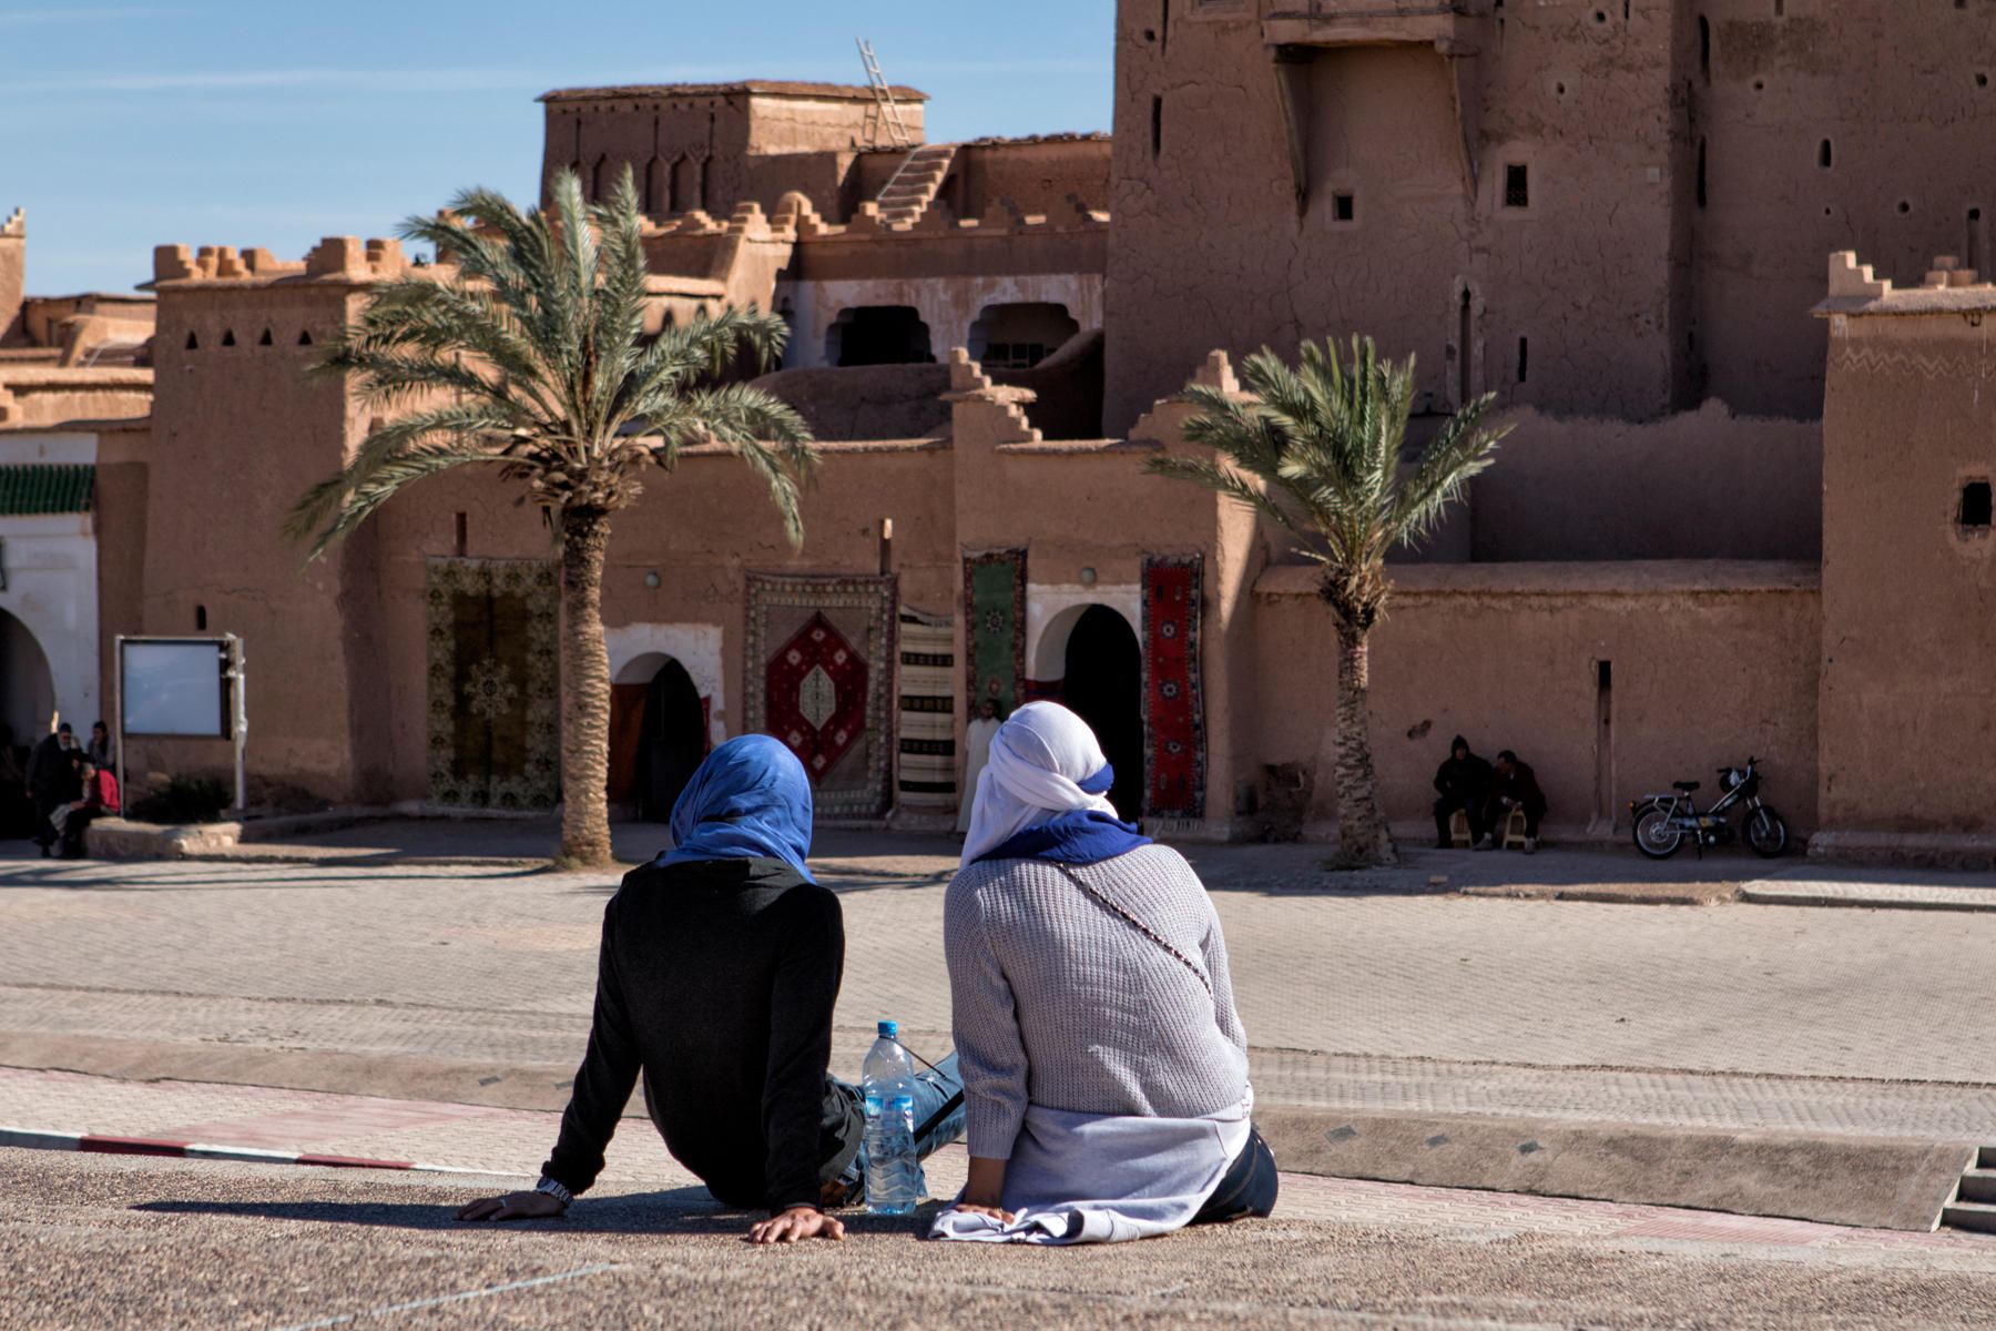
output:
[[[1255,583],[1259,762],[1309,764],[1311,820],[1335,818],[1337,641],[1313,571]],[[1814,565],[1429,565],[1393,575],[1371,647],[1371,738],[1387,816],[1421,834],[1435,766],[1463,734],[1513,748],[1555,836],[1629,834],[1629,800],[1766,758],[1764,798],[1816,826]],[[1609,663],[1603,676],[1601,663]],[[1427,836],[1433,836],[1431,824]]]

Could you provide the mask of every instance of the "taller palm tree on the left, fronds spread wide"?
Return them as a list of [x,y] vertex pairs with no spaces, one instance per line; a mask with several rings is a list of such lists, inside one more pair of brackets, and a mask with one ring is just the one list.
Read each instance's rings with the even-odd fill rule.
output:
[[788,325],[752,305],[645,335],[645,247],[631,172],[589,204],[571,172],[553,208],[521,212],[467,190],[401,235],[439,263],[377,285],[359,323],[311,373],[333,375],[383,411],[351,461],[313,485],[285,523],[317,559],[423,477],[491,465],[541,505],[561,537],[561,856],[611,862],[609,661],[603,555],[611,517],[637,501],[647,465],[673,471],[689,443],[733,449],[768,487],[790,545],[798,491],[816,465],[786,403],[717,377],[741,351],[760,365]]

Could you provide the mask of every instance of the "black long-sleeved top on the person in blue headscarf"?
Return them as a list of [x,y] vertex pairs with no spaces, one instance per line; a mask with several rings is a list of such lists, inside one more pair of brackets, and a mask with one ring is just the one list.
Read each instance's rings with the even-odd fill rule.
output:
[[581,1193],[639,1070],[679,1163],[739,1207],[816,1205],[864,1119],[838,1090],[832,1004],[838,898],[782,860],[703,860],[625,874],[603,910],[597,1008],[543,1173]]

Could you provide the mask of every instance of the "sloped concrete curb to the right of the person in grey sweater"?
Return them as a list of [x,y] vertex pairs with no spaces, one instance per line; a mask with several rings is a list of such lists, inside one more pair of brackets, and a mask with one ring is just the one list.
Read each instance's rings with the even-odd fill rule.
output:
[[1283,1169],[1930,1233],[1976,1147],[1547,1117],[1255,1108]]

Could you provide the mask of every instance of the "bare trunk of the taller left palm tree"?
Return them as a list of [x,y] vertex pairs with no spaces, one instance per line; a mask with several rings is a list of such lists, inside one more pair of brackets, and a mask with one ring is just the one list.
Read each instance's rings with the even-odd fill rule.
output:
[[561,513],[561,856],[611,864],[611,663],[603,651],[603,557],[611,515]]

